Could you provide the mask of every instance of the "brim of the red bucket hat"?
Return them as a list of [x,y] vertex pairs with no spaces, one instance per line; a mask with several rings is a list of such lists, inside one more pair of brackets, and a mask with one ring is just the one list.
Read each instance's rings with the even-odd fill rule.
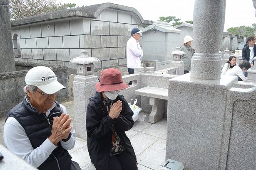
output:
[[128,87],[130,87],[130,86],[125,83],[119,83],[119,84],[114,84],[114,85],[100,85],[100,83],[97,83],[95,85],[97,92],[119,91],[119,90],[124,90]]

